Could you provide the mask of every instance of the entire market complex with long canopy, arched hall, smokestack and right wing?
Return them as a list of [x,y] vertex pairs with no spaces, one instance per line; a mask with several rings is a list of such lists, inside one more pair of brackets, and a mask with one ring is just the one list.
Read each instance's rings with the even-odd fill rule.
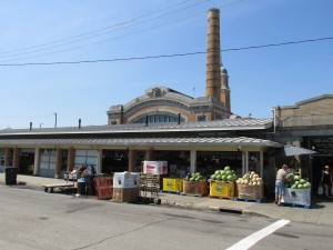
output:
[[[209,177],[230,166],[238,176],[256,171],[266,183],[274,183],[276,168],[286,160],[314,181],[323,163],[333,166],[332,94],[274,107],[273,118],[254,119],[231,111],[230,93],[221,60],[220,11],[211,9],[204,97],[157,86],[125,104],[111,106],[107,126],[1,130],[1,166],[17,167],[23,174],[63,178],[82,164],[111,174],[141,171],[144,160],[163,160],[172,177],[189,171]],[[287,143],[317,153],[276,157]]]

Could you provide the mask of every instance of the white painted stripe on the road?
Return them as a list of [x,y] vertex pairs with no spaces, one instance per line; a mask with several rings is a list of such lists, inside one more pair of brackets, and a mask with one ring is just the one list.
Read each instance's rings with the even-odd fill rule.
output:
[[278,229],[287,224],[290,220],[278,220],[276,222],[259,230],[258,232],[252,233],[251,236],[242,239],[241,241],[236,242],[235,244],[231,246],[226,250],[246,250],[255,244],[258,241],[262,240],[263,238],[268,237],[269,234],[273,233]]

